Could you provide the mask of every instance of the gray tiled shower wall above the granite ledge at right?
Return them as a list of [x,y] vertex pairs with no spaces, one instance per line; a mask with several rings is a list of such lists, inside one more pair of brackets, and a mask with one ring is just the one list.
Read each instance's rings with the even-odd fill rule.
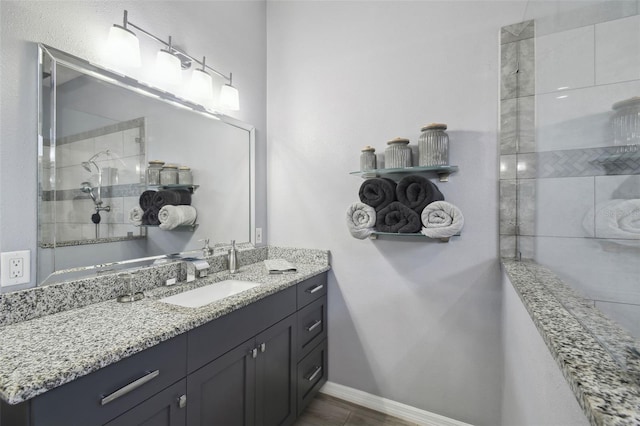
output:
[[[640,16],[592,21],[535,38],[535,108],[503,92],[501,253],[549,266],[640,336],[640,240],[598,226],[619,214],[604,203],[640,199],[640,146],[615,145],[610,124],[612,104],[640,95]],[[534,117],[534,142],[518,145]]]

